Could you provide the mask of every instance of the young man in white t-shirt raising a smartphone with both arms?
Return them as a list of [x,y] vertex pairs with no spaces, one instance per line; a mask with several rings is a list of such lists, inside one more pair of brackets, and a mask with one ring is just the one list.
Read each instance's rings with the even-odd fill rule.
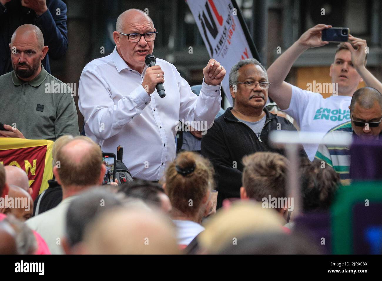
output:
[[[341,43],[336,50],[334,62],[330,65],[332,85],[337,85],[335,94],[324,99],[313,93],[285,82],[293,63],[309,48],[329,44],[322,41],[322,30],[331,28],[317,24],[303,35],[268,68],[268,81],[272,84],[269,96],[280,109],[293,117],[301,131],[320,132],[325,135],[334,126],[349,121],[351,97],[362,81],[367,86],[382,91],[382,84],[368,71],[366,65],[366,40],[349,34],[349,42]],[[351,43],[351,44],[350,44]],[[333,84],[334,83],[334,84]],[[318,145],[304,145],[312,161]]]

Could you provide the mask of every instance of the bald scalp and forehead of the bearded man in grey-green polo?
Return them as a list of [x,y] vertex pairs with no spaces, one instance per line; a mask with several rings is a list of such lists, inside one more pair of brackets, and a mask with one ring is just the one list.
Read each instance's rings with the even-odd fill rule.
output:
[[15,41],[36,44],[39,50],[44,47],[44,35],[42,35],[41,29],[33,24],[19,26],[11,37],[11,46],[13,46]]

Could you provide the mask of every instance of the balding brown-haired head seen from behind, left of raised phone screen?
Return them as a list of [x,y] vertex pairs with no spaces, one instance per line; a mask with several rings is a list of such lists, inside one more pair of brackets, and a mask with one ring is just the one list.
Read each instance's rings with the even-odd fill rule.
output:
[[[58,164],[53,168],[57,181],[63,186],[85,187],[99,185],[103,180],[102,152],[86,136],[78,136],[57,151]],[[104,173],[104,171],[103,171]],[[101,178],[101,180],[100,180]]]

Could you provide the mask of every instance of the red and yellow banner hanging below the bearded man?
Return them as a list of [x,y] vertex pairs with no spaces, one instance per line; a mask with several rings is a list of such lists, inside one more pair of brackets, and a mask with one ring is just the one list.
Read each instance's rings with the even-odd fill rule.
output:
[[48,188],[53,177],[53,141],[0,138],[0,163],[23,169],[29,178],[33,200]]

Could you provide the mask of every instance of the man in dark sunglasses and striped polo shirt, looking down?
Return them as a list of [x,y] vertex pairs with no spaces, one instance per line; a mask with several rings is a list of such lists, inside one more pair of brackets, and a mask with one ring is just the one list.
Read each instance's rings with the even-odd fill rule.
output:
[[[332,128],[326,135],[336,139],[348,133],[363,141],[375,141],[382,135],[382,94],[364,87],[354,92],[349,106],[351,119]],[[325,138],[324,137],[324,138]],[[319,145],[314,161],[324,161],[340,175],[343,185],[350,184],[350,148]]]

